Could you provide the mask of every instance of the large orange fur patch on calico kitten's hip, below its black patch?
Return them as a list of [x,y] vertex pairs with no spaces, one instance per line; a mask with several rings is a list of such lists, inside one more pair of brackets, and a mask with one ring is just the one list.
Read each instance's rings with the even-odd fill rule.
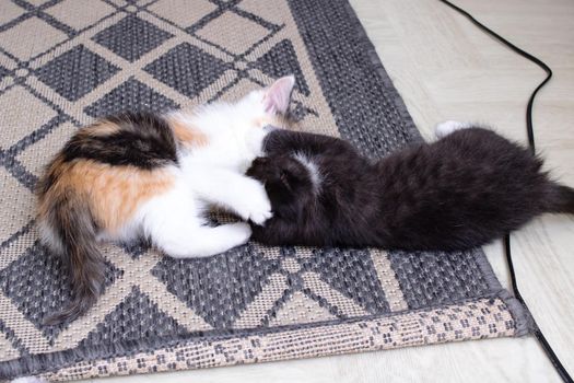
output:
[[71,193],[85,199],[98,225],[113,234],[129,222],[142,204],[167,192],[175,181],[168,169],[145,171],[89,160],[65,163],[56,159],[48,172],[57,176],[57,181],[40,196],[40,217],[58,196]]

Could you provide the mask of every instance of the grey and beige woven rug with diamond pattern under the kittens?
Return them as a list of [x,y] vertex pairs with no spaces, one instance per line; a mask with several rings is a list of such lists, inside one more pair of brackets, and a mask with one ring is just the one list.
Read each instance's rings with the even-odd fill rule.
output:
[[525,334],[481,251],[262,247],[175,260],[106,246],[105,294],[42,320],[69,283],[33,187],[78,127],[119,109],[234,100],[295,73],[294,115],[371,155],[420,140],[344,0],[0,3],[0,379],[50,381]]

